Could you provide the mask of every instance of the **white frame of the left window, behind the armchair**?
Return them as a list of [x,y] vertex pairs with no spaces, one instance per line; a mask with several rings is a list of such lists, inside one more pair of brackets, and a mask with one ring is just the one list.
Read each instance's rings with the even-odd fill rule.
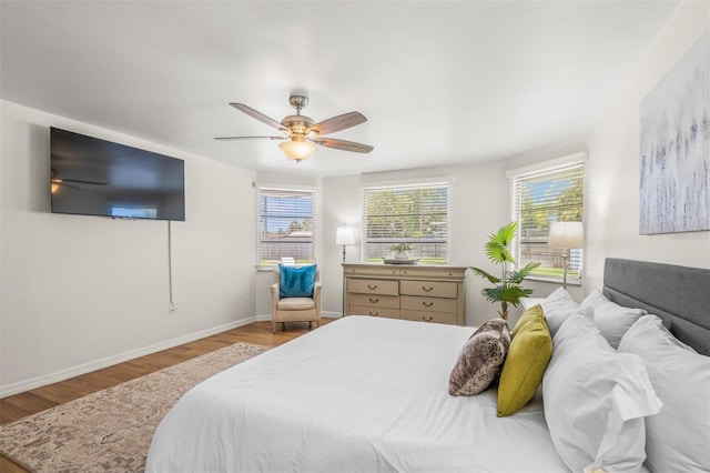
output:
[[[255,184],[254,185],[256,189],[256,254],[255,254],[255,259],[256,259],[256,268],[263,268],[263,269],[273,269],[275,265],[281,264],[281,258],[286,258],[286,256],[292,256],[295,258],[296,261],[296,265],[303,265],[303,264],[312,264],[316,262],[316,243],[317,243],[317,238],[318,238],[318,233],[317,233],[317,204],[318,204],[318,191],[315,188],[310,188],[310,187],[297,187],[297,185],[287,185],[287,184],[267,184],[267,183],[261,183],[261,184]],[[270,218],[268,215],[265,215],[264,212],[262,211],[262,199],[265,197],[272,197],[272,198],[278,198],[278,197],[283,197],[283,198],[290,198],[290,197],[307,197],[310,195],[312,201],[311,201],[311,205],[310,205],[310,218],[306,217],[304,220],[308,220],[310,223],[310,239],[307,241],[293,241],[290,242],[291,243],[300,243],[300,244],[307,244],[310,250],[310,259],[304,259],[304,258],[297,258],[297,255],[295,254],[282,254],[278,260],[276,259],[267,259],[265,258],[264,254],[264,243],[266,242],[266,240],[263,238],[262,234],[262,227],[263,227],[263,222],[264,219]],[[297,204],[295,204],[294,202],[294,209]],[[281,207],[282,211],[288,211],[288,205],[282,205]],[[284,215],[271,215],[272,219],[287,219],[287,218],[292,218],[292,219],[298,219],[303,215],[298,214],[301,210],[294,210],[294,213],[288,215],[286,214],[286,217]],[[291,222],[290,222],[291,224]],[[283,227],[283,225],[280,225]],[[298,239],[305,239],[303,235],[298,235],[296,236]],[[274,240],[274,241],[281,241],[281,240]]]

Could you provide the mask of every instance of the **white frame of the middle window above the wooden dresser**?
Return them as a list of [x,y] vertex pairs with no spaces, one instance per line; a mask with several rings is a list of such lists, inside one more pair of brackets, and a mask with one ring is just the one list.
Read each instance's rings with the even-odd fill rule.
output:
[[[379,241],[373,241],[377,236],[368,236],[368,219],[371,215],[367,209],[368,199],[373,198],[376,193],[384,192],[409,192],[425,189],[437,189],[445,191],[445,197],[438,201],[438,203],[445,203],[445,230],[439,230],[436,233],[439,234],[436,238],[425,240],[425,236],[415,236],[405,234],[402,236],[378,236]],[[422,201],[419,201],[420,204]],[[437,203],[436,199],[429,201]],[[435,178],[430,180],[408,180],[408,181],[394,181],[394,182],[381,182],[364,184],[359,189],[359,214],[361,214],[361,262],[379,262],[385,259],[389,259],[394,255],[390,250],[383,251],[385,245],[392,246],[398,243],[410,243],[413,249],[408,251],[410,259],[418,259],[426,264],[448,264],[450,259],[450,214],[452,214],[452,180],[449,178]],[[419,215],[438,215],[440,212],[424,213]],[[400,217],[405,214],[399,214]],[[409,214],[410,217],[413,214]],[[394,218],[392,215],[379,215],[381,218]],[[420,217],[422,218],[422,217]],[[424,224],[424,223],[423,223]],[[420,230],[420,229],[419,229]],[[427,250],[417,245],[426,244]],[[376,245],[376,246],[375,246]],[[437,246],[438,245],[438,246]],[[442,245],[444,245],[444,255],[440,255]],[[373,248],[374,246],[374,248]],[[377,248],[378,246],[378,248]],[[423,251],[428,252],[430,255],[423,254]],[[439,254],[437,254],[439,253]]]

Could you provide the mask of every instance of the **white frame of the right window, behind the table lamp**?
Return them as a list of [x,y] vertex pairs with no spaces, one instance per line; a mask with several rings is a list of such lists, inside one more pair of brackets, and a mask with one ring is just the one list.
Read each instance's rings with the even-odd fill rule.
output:
[[[538,164],[534,164],[526,168],[520,168],[516,170],[508,171],[506,177],[510,181],[510,219],[518,222],[518,234],[516,239],[513,241],[511,250],[516,261],[516,269],[523,268],[528,262],[538,261],[534,258],[524,258],[521,254],[521,250],[527,245],[538,245],[537,253],[541,253],[545,259],[548,261],[551,260],[551,264],[545,264],[545,261],[541,261],[541,264],[538,269],[534,270],[526,279],[531,281],[544,281],[544,282],[552,282],[552,283],[562,283],[562,268],[557,268],[557,264],[562,261],[562,254],[565,254],[565,250],[562,249],[550,249],[547,246],[547,239],[545,242],[534,242],[532,238],[528,241],[524,241],[523,233],[526,232],[527,225],[524,222],[523,218],[523,185],[525,183],[537,183],[542,184],[545,182],[561,182],[565,177],[572,177],[576,180],[580,180],[581,184],[581,195],[579,197],[579,210],[577,211],[579,219],[584,224],[584,215],[585,215],[585,192],[586,192],[586,167],[587,167],[587,153],[579,152],[569,154],[566,157],[561,157],[555,160],[545,161]],[[549,177],[550,179],[544,179]],[[557,193],[561,193],[567,189],[572,188],[562,188]],[[549,189],[549,188],[548,188]],[[544,205],[545,207],[545,205]],[[548,209],[551,211],[562,211],[565,207],[558,205],[556,208],[549,207]],[[574,211],[574,210],[572,210]],[[554,221],[571,221],[574,219],[567,217],[556,218],[557,215],[547,215],[546,224],[547,231],[549,232],[549,224]],[[541,235],[537,234],[539,239]],[[532,248],[532,246],[528,246]],[[584,249],[570,249],[569,250],[569,269],[567,272],[567,284],[568,285],[581,285],[584,280]],[[559,272],[559,274],[557,274]]]

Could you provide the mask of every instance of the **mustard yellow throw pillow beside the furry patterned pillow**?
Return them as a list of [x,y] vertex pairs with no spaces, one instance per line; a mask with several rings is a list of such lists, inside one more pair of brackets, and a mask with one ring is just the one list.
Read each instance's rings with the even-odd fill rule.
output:
[[524,323],[518,321],[515,326],[498,384],[499,417],[515,414],[532,399],[552,356],[552,338],[541,309],[537,308],[526,311]]

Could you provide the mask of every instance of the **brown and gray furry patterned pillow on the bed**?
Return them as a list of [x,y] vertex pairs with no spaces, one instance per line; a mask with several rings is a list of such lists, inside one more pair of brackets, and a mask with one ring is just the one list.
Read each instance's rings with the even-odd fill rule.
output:
[[510,330],[503,319],[484,323],[464,344],[448,378],[450,395],[474,395],[486,390],[500,374],[510,346]]

